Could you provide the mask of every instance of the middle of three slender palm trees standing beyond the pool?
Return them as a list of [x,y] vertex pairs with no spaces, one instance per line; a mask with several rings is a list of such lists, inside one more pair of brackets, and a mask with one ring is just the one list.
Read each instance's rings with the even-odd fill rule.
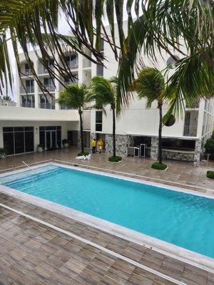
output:
[[113,116],[113,157],[116,157],[116,116],[121,111],[121,98],[118,94],[118,78],[113,77],[108,80],[103,76],[95,76],[91,79],[90,100],[96,102],[93,108],[102,109],[105,112],[106,105],[111,106]]

